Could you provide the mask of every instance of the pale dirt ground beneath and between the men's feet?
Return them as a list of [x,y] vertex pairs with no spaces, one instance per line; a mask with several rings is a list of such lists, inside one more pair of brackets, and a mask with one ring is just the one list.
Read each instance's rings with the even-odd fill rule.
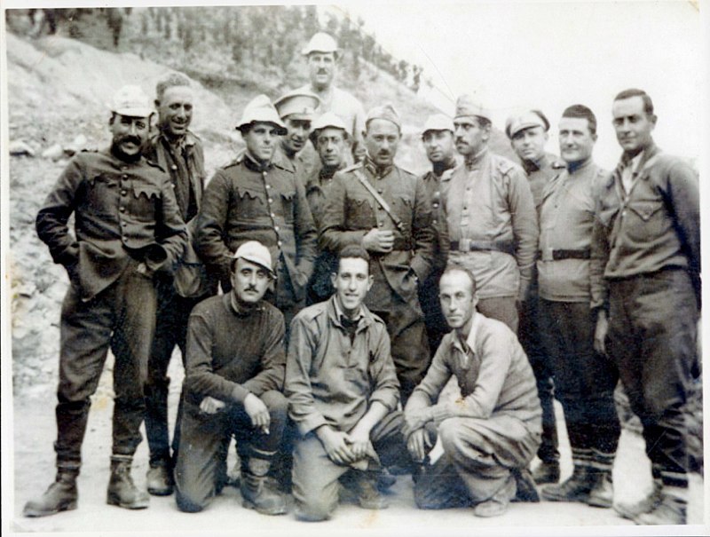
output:
[[[170,416],[175,415],[178,387],[182,380],[182,366],[177,355],[170,366],[174,379],[170,391]],[[569,526],[588,526],[580,531],[593,530],[595,534],[618,534],[624,531],[643,531],[630,521],[619,517],[613,509],[595,509],[579,503],[515,503],[503,517],[482,519],[474,517],[471,509],[447,509],[423,511],[414,506],[412,481],[401,476],[392,487],[390,508],[367,511],[355,505],[341,505],[335,517],[318,525],[296,521],[292,514],[284,517],[264,517],[255,511],[243,509],[238,491],[227,487],[208,509],[199,514],[186,514],[177,510],[174,497],[151,497],[149,509],[129,511],[106,505],[106,485],[109,475],[111,451],[111,415],[113,399],[111,392],[111,359],[106,364],[99,391],[93,400],[86,438],[83,444],[84,464],[79,478],[79,509],[60,513],[53,517],[25,518],[22,507],[26,501],[42,494],[54,476],[54,452],[52,442],[56,434],[51,393],[23,395],[14,400],[14,497],[12,498],[12,521],[15,532],[144,532],[168,531],[170,533],[215,534],[238,527],[257,529],[259,532],[293,533],[332,532],[332,530],[378,530],[382,533],[399,533],[404,528],[410,533],[446,530],[459,533],[467,528],[487,532],[494,527],[505,526],[505,533],[563,532]],[[561,407],[557,406],[558,427],[561,433],[563,478],[572,473],[569,444]],[[231,450],[233,452],[233,450]],[[230,456],[233,456],[231,453]],[[147,446],[144,441],[138,447],[134,462],[134,477],[138,486],[145,486],[147,470]],[[651,469],[643,454],[643,439],[624,430],[614,465],[615,501],[635,501],[651,489]],[[690,478],[690,509],[688,521],[692,525],[703,523],[703,479],[692,474]],[[238,518],[235,518],[238,517]],[[238,522],[237,522],[238,521]],[[548,526],[544,530],[543,526]],[[599,526],[594,529],[593,526]],[[556,529],[555,529],[556,528]],[[652,528],[645,528],[651,530]],[[675,528],[676,530],[680,528]],[[682,528],[691,533],[706,532],[696,526]],[[408,530],[407,530],[408,531]],[[477,531],[477,530],[474,530]],[[232,532],[230,532],[232,533]],[[685,533],[685,532],[683,532]]]

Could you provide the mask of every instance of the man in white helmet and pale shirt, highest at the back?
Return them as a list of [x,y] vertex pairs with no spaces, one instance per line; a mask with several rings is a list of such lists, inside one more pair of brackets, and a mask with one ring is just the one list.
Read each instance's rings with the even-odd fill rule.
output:
[[325,32],[312,36],[302,52],[306,57],[311,82],[298,88],[298,91],[312,91],[320,99],[320,113],[334,112],[343,120],[353,140],[352,154],[356,161],[362,160],[366,151],[362,145],[365,109],[351,93],[334,84],[337,65],[343,52],[338,48],[335,39]]

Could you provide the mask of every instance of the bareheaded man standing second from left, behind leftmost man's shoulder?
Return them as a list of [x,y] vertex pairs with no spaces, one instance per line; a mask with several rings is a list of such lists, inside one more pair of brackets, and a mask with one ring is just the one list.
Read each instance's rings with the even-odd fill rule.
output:
[[[170,173],[180,216],[192,238],[205,180],[202,143],[189,130],[193,119],[193,90],[184,75],[173,74],[156,85],[155,94],[159,132],[150,140],[146,158]],[[172,274],[156,277],[158,312],[146,386],[146,437],[150,448],[146,481],[148,492],[155,495],[171,494],[173,488],[173,457],[168,431],[170,357],[177,345],[185,365],[185,337],[190,312],[195,304],[217,290],[206,278],[204,267],[194,253],[192,239],[187,242],[181,265],[176,269],[176,272],[180,271],[193,271],[191,288],[181,287],[179,276],[177,280]],[[173,454],[177,452],[178,438],[179,419],[173,435]]]

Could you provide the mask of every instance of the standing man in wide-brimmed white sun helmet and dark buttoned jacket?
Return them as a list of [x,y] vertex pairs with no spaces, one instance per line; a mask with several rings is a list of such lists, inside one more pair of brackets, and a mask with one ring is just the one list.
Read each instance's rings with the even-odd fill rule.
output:
[[265,95],[253,99],[237,128],[247,149],[217,170],[209,182],[197,220],[195,249],[219,274],[227,291],[232,288],[233,251],[244,241],[264,244],[277,276],[270,299],[284,314],[288,335],[291,319],[305,303],[317,233],[303,184],[292,169],[274,159],[280,136],[287,130],[271,101]]

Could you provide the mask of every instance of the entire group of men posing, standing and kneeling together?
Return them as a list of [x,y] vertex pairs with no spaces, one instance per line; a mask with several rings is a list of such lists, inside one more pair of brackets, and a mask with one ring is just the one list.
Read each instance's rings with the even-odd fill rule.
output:
[[[107,501],[123,508],[148,505],[130,475],[145,420],[148,492],[175,491],[184,511],[226,486],[234,438],[243,505],[267,515],[287,512],[288,492],[304,520],[330,517],[343,491],[382,509],[392,474],[411,473],[422,509],[499,516],[509,501],[538,501],[544,484],[548,501],[684,523],[698,178],[653,144],[651,98],[613,100],[623,156],[607,173],[592,158],[588,107],[564,110],[559,159],[546,153],[544,114],[510,117],[517,164],[488,149],[491,115],[462,96],[453,119],[425,122],[432,170],[418,178],[394,163],[395,108],[366,115],[333,85],[333,38],[313,36],[304,55],[310,85],[253,99],[237,124],[246,149],[207,186],[193,90],[170,75],[152,138],[153,107],[122,88],[110,148],[77,155],[51,191],[37,232],[71,281],[57,478],[25,515],[76,508],[90,396],[111,348]],[[185,382],[170,446],[176,345]],[[439,398],[452,376],[460,397]],[[635,505],[613,504],[619,378],[654,478]],[[572,446],[562,483],[553,395]]]

